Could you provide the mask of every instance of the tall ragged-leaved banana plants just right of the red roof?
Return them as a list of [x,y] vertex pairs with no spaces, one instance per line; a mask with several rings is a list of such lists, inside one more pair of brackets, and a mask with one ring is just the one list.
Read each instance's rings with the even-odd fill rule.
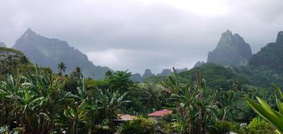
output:
[[175,104],[177,120],[182,123],[182,133],[206,133],[209,121],[214,117],[214,111],[218,109],[215,97],[217,92],[204,97],[208,93],[201,73],[196,74],[195,84],[182,84],[178,82],[175,68],[173,75],[161,83],[171,91],[171,100]]

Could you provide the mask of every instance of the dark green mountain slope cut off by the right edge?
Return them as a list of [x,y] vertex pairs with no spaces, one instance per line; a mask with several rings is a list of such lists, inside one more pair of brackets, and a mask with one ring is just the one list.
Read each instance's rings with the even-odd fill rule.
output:
[[249,65],[283,72],[283,31],[278,32],[276,42],[267,44],[257,54],[254,54]]

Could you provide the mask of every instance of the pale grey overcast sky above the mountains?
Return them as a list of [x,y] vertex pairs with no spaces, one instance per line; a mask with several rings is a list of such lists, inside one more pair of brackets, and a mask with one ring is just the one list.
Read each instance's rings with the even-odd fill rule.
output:
[[0,41],[27,28],[66,40],[95,65],[143,73],[206,61],[222,32],[253,49],[283,30],[282,0],[0,0]]

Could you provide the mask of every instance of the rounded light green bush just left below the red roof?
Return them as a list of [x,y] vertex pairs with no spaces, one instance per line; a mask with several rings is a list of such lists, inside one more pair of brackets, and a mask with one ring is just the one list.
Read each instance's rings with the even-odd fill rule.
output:
[[137,118],[134,118],[134,120],[128,121],[124,123],[122,126],[120,126],[118,132],[122,134],[132,134],[132,133],[150,134],[156,132],[154,126],[155,126],[155,121],[153,118],[144,118],[142,116],[139,116]]

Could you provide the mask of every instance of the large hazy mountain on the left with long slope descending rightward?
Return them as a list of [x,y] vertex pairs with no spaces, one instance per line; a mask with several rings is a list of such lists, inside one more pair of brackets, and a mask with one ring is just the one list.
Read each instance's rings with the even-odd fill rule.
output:
[[79,66],[86,78],[103,79],[105,72],[110,70],[107,67],[94,66],[88,61],[86,54],[70,47],[66,41],[37,35],[30,28],[16,41],[13,48],[23,51],[31,62],[50,67],[54,72],[57,72],[57,64],[61,61],[67,66],[67,73]]

